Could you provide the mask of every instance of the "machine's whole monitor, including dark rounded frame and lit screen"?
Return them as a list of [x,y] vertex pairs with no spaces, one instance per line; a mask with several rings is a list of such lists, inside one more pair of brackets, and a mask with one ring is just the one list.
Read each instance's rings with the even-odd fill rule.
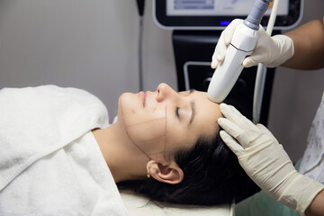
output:
[[[255,0],[155,0],[153,18],[163,29],[223,30],[234,19],[245,19]],[[302,19],[303,0],[281,0],[274,30],[293,29]],[[266,26],[273,4],[261,21]]]

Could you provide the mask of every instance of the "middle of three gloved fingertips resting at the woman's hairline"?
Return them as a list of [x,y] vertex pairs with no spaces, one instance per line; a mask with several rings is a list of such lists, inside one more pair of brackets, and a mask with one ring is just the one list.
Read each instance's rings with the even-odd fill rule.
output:
[[250,139],[247,131],[242,130],[236,123],[225,118],[219,118],[218,123],[223,130],[229,133],[230,136],[237,139],[243,148],[249,146]]

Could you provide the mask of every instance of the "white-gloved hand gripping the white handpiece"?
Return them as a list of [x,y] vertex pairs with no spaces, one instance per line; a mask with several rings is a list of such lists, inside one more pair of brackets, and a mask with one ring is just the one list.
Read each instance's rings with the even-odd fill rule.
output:
[[[211,59],[211,67],[216,68],[226,55],[226,49],[233,37],[234,31],[243,20],[235,19],[220,34],[215,51]],[[263,63],[266,67],[277,67],[287,59],[293,57],[293,40],[285,35],[275,35],[270,37],[265,29],[260,25],[258,30],[257,46],[249,57],[243,60],[244,67],[252,67],[258,63]]]

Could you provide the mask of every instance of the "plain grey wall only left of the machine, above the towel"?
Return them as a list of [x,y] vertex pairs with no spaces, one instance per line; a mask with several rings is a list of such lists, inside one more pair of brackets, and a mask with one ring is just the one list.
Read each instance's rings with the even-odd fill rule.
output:
[[[147,1],[144,87],[176,86],[171,31],[159,29]],[[124,92],[139,91],[135,0],[0,0],[0,87],[83,88],[110,117]]]

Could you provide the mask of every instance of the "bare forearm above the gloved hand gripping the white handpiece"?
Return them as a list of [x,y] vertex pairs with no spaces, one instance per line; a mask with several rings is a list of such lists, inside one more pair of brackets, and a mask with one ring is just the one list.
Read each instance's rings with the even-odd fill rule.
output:
[[285,33],[293,40],[294,54],[283,67],[319,69],[324,67],[324,17]]

